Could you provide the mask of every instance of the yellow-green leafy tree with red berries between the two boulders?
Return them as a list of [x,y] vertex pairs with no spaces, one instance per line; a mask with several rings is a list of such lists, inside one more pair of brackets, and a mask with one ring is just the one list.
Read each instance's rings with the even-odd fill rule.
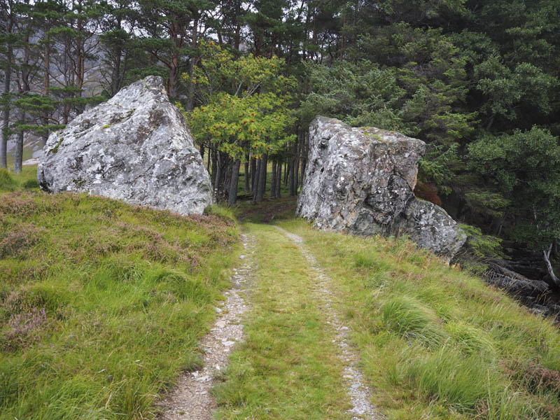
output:
[[[283,76],[283,59],[246,55],[234,59],[232,52],[213,41],[202,43],[200,66],[191,78],[195,94],[203,105],[190,113],[190,125],[197,143],[217,153],[213,174],[219,197],[228,195],[235,204],[237,176],[248,156],[266,162],[289,141],[294,124],[293,89],[296,81]],[[232,165],[232,176],[227,176]],[[266,165],[261,164],[255,201],[262,200]],[[221,177],[225,179],[222,181]],[[225,185],[225,186],[224,186]],[[225,191],[228,193],[225,194]]]

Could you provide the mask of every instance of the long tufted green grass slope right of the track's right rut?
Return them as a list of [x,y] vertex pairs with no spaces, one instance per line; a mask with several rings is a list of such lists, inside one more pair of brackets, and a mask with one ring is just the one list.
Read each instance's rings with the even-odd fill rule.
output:
[[560,335],[500,290],[404,240],[283,218],[331,276],[389,419],[558,419]]

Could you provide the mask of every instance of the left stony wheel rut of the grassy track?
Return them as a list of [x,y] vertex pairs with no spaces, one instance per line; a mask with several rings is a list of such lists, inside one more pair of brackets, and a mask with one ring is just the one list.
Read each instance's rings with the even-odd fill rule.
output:
[[214,398],[210,394],[215,377],[228,364],[230,351],[236,342],[243,339],[242,315],[248,309],[240,293],[244,291],[253,272],[253,240],[241,235],[245,254],[241,255],[244,264],[234,269],[232,288],[224,293],[226,300],[217,307],[218,316],[214,328],[202,339],[204,349],[204,367],[195,372],[186,372],[179,377],[176,389],[162,401],[162,420],[209,420],[216,409]]

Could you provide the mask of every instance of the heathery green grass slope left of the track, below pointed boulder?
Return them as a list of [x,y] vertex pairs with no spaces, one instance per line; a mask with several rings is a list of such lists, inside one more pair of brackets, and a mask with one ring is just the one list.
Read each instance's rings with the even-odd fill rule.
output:
[[0,172],[0,419],[153,418],[200,365],[237,224],[25,190],[29,172]]

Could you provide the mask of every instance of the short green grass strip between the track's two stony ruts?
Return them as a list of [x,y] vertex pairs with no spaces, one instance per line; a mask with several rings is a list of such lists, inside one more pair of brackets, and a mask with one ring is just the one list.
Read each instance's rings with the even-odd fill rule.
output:
[[218,419],[349,419],[342,367],[314,276],[292,242],[265,225],[257,238],[246,341],[215,390]]

